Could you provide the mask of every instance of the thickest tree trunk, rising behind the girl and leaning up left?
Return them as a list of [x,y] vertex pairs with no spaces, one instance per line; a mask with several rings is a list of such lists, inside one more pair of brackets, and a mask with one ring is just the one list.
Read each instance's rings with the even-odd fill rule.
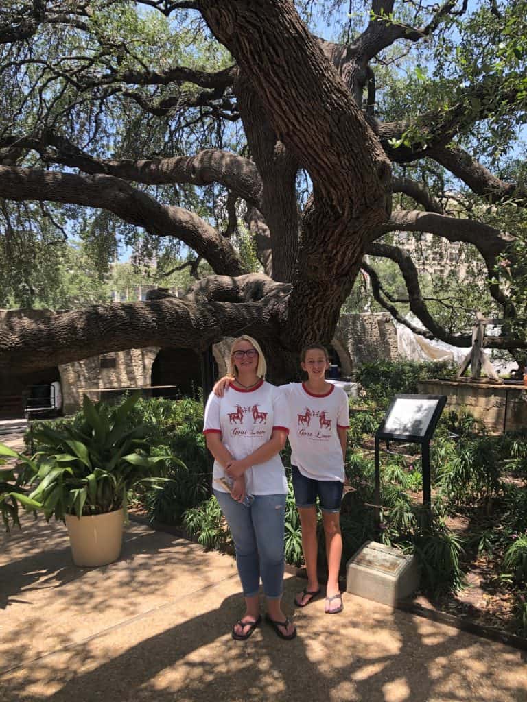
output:
[[274,133],[313,180],[282,343],[292,350],[313,339],[329,343],[367,239],[389,217],[389,161],[292,3],[199,6],[252,77]]

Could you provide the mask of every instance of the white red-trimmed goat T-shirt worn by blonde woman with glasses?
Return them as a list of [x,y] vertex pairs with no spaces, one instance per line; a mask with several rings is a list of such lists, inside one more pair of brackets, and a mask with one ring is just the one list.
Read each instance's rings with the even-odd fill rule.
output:
[[[203,433],[221,434],[221,443],[233,458],[249,456],[271,439],[273,429],[288,430],[289,413],[285,395],[275,385],[262,380],[252,390],[240,390],[231,383],[223,397],[209,395],[205,407]],[[214,461],[213,479],[224,477]],[[226,492],[213,483],[214,489]],[[253,465],[245,471],[245,490],[252,495],[285,495],[287,480],[280,456]]]

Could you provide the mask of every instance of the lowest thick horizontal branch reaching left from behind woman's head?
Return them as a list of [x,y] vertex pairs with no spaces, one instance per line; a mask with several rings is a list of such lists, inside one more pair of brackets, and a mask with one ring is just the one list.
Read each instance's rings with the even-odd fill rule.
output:
[[204,350],[225,336],[278,336],[280,298],[259,302],[199,304],[164,298],[96,305],[48,319],[16,319],[1,327],[0,368],[10,373],[79,361],[111,351],[145,346]]

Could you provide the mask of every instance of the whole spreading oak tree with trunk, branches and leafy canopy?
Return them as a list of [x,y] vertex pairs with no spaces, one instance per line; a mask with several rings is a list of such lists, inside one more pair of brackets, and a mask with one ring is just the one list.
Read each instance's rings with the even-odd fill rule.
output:
[[[202,267],[184,298],[12,322],[0,364],[238,333],[329,343],[360,268],[425,336],[469,343],[477,289],[509,320],[493,345],[526,348],[526,15],[526,0],[7,0],[6,290],[44,286],[68,237],[102,272],[119,241],[167,272]],[[425,235],[456,246],[470,291],[425,281]]]

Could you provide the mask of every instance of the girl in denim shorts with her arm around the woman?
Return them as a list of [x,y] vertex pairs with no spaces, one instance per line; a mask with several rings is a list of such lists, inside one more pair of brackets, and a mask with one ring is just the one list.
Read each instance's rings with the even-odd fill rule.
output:
[[[330,360],[325,347],[312,344],[301,352],[305,383],[281,385],[289,406],[289,444],[294,497],[302,526],[302,548],[308,583],[295,598],[298,607],[306,607],[320,593],[317,576],[317,514],[320,503],[327,554],[325,611],[342,611],[339,568],[342,537],[339,514],[344,486],[346,430],[349,428],[348,397],[344,390],[325,380]],[[223,392],[229,379],[222,378],[214,392]]]

